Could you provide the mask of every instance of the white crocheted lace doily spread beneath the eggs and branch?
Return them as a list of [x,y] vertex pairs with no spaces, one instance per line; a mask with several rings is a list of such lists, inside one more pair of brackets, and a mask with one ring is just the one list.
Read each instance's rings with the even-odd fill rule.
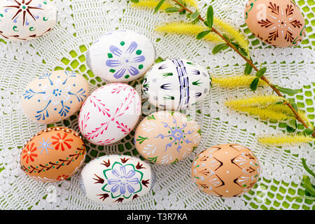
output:
[[[45,125],[31,122],[20,108],[20,94],[29,80],[45,71],[71,69],[90,82],[90,90],[106,84],[87,68],[85,51],[92,41],[113,29],[139,31],[153,41],[158,57],[182,57],[193,60],[216,75],[235,75],[244,71],[244,60],[232,50],[212,55],[214,45],[189,36],[159,34],[154,31],[162,22],[179,20],[181,15],[153,14],[153,10],[130,7],[126,0],[53,0],[57,5],[58,23],[42,38],[22,43],[0,41],[0,209],[314,209],[314,201],[290,200],[304,195],[301,177],[306,174],[301,158],[309,166],[315,165],[314,144],[295,147],[267,147],[256,137],[285,130],[281,123],[266,123],[230,111],[226,99],[253,94],[248,87],[225,89],[212,87],[201,104],[190,114],[202,127],[202,141],[188,159],[175,165],[152,165],[157,181],[150,193],[129,204],[102,206],[88,200],[78,186],[78,174],[70,181],[39,183],[20,169],[20,150],[32,135]],[[312,1],[298,1],[307,24],[307,37],[295,48],[273,48],[262,45],[244,24],[245,0],[212,1],[216,15],[231,22],[246,33],[251,42],[254,62],[267,66],[267,78],[282,87],[300,89],[295,95],[297,105],[314,122],[315,104],[315,5]],[[198,1],[204,15],[209,1]],[[223,5],[230,11],[223,11]],[[224,8],[224,7],[223,7]],[[225,7],[226,8],[226,7]],[[130,83],[137,84],[139,80]],[[260,87],[259,92],[271,91]],[[148,113],[148,102],[144,104]],[[155,111],[151,107],[151,111]],[[143,118],[144,116],[142,116]],[[57,125],[78,130],[78,113]],[[283,127],[284,126],[284,127]],[[139,157],[132,132],[112,146],[87,143],[86,162],[106,154],[125,154]],[[251,148],[260,160],[260,179],[254,188],[234,198],[205,195],[190,180],[191,162],[210,146],[237,143]],[[314,169],[314,168],[313,168]]]

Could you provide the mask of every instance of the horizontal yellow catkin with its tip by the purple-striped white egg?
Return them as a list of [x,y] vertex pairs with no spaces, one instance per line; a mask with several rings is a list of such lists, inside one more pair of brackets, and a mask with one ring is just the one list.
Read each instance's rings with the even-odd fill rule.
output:
[[[230,77],[223,77],[218,78],[216,76],[212,76],[212,82],[215,85],[220,85],[222,87],[237,87],[237,86],[249,86],[251,85],[251,82],[256,78],[256,76],[246,76],[246,75],[240,75],[240,76],[230,76]],[[266,85],[263,80],[259,80],[258,85]]]

